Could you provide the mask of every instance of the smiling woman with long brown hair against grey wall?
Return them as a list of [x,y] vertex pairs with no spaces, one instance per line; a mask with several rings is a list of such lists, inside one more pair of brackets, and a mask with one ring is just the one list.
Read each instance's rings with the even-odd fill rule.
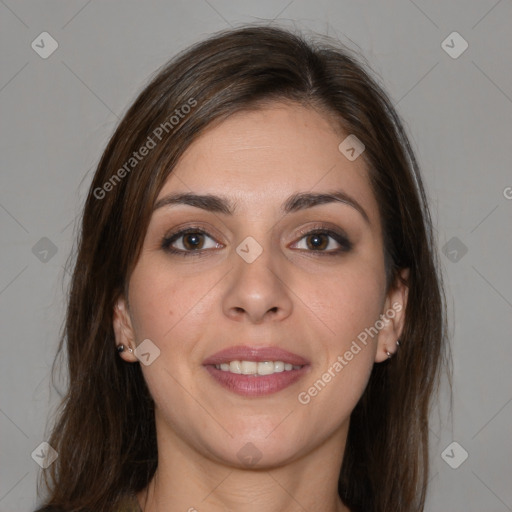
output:
[[285,30],[216,34],[91,184],[39,510],[421,511],[444,311],[376,81]]

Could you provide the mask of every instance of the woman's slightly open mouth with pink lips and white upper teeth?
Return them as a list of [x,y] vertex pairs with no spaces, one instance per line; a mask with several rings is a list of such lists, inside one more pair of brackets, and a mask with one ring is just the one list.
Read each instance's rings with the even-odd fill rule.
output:
[[265,396],[291,386],[309,371],[298,354],[277,347],[231,347],[203,362],[213,379],[243,396]]

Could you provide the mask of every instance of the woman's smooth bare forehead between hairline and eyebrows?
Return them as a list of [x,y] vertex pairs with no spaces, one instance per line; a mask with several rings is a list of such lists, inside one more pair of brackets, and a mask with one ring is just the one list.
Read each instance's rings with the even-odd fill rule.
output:
[[332,119],[295,104],[242,111],[206,129],[180,158],[158,199],[169,193],[230,196],[237,210],[278,207],[303,191],[340,189],[364,204],[376,201],[366,164],[338,149],[344,134]]

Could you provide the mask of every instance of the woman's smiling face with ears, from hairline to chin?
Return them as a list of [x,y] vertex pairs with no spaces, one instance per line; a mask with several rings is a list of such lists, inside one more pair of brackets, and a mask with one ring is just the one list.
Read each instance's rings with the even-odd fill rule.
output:
[[406,298],[386,294],[365,163],[338,149],[348,135],[279,103],[205,131],[168,177],[114,328],[117,343],[149,340],[122,357],[141,361],[171,444],[239,466],[344,445]]

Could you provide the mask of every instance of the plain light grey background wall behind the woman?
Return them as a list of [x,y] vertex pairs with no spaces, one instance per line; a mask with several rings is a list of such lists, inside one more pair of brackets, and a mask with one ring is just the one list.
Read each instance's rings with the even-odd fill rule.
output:
[[[453,337],[453,418],[444,389],[427,511],[512,510],[510,0],[0,0],[0,511],[36,504],[31,454],[58,402],[49,375],[63,266],[109,136],[177,51],[262,19],[362,52],[404,119],[431,198]],[[44,31],[59,45],[46,59],[31,47]],[[469,44],[458,58],[442,46],[453,31]],[[460,464],[462,450],[453,469],[445,460]]]

